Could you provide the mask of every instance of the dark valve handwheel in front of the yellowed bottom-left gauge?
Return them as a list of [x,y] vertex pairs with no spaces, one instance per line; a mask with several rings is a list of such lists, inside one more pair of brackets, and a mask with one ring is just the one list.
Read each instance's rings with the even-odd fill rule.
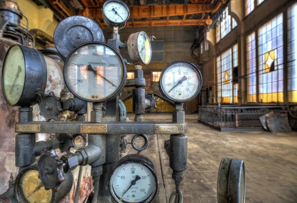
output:
[[38,173],[46,190],[59,191],[60,184],[65,180],[63,166],[64,162],[58,158],[53,149],[42,151],[38,162]]

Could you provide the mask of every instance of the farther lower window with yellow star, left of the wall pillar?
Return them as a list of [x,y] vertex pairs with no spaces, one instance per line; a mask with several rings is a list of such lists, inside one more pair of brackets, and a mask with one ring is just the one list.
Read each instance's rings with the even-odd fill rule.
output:
[[222,53],[221,56],[217,57],[217,84],[220,103],[238,102],[238,84],[235,85],[233,82],[233,68],[237,66],[238,44],[234,45],[232,48]]

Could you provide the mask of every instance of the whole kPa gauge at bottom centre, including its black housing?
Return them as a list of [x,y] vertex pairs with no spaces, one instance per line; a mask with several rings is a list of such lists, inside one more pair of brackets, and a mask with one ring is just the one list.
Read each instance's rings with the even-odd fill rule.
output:
[[157,188],[155,168],[142,155],[123,157],[111,173],[109,189],[117,203],[149,203],[156,195]]

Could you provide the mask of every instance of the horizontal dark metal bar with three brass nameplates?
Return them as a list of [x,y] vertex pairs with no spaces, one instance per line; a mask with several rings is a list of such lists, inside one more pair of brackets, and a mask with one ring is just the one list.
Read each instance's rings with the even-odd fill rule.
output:
[[[174,122],[17,122],[17,133],[186,134],[187,123]],[[82,131],[84,130],[84,131]],[[87,129],[88,130],[88,129]]]

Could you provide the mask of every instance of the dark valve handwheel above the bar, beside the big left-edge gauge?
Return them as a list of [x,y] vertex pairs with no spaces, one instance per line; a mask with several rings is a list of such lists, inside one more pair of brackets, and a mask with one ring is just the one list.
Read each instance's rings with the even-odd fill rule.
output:
[[42,115],[47,122],[51,119],[58,120],[60,112],[63,112],[61,107],[61,98],[56,97],[52,91],[49,92],[49,94],[43,93],[38,105],[40,115]]

